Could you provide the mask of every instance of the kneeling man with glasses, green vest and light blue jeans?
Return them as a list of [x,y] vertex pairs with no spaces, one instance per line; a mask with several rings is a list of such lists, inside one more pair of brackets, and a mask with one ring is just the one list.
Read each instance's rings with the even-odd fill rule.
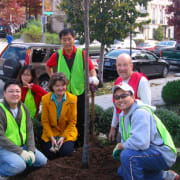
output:
[[20,100],[19,83],[6,82],[0,103],[0,179],[21,173],[27,166],[47,163],[47,158],[35,149],[30,114]]

